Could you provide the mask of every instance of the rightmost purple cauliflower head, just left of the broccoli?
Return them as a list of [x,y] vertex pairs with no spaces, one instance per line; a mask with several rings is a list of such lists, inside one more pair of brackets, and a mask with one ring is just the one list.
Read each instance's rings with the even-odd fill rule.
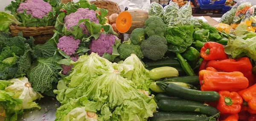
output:
[[89,46],[89,52],[97,53],[99,56],[103,56],[104,53],[111,55],[113,51],[112,46],[115,44],[115,40],[118,40],[118,37],[115,35],[100,34],[97,40],[94,38],[92,39]]

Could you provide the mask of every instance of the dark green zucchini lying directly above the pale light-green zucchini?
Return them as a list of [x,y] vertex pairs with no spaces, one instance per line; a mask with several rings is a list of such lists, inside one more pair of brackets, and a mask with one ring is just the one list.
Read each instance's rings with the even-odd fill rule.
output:
[[166,58],[166,59],[145,63],[145,68],[149,70],[158,68],[158,67],[163,67],[163,66],[181,67],[180,62],[177,60],[177,58]]

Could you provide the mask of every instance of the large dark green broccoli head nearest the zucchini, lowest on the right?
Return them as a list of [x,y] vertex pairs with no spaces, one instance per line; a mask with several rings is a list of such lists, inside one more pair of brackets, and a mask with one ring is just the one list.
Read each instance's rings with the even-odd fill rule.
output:
[[168,50],[167,40],[165,37],[152,35],[140,44],[144,57],[151,60],[162,59]]

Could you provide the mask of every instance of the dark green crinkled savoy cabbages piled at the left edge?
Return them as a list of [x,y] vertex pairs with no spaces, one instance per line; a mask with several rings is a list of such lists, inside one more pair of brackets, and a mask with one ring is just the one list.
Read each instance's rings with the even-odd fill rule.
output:
[[16,37],[9,32],[0,35],[0,80],[26,75],[35,91],[54,96],[56,87],[52,84],[58,82],[58,58],[53,57],[56,47],[52,41],[43,45],[34,45],[33,41],[22,33]]

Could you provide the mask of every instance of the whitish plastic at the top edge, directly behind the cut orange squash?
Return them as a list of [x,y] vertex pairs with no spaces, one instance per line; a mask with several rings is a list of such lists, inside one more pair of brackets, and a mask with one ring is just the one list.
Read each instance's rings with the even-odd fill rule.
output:
[[150,0],[123,0],[119,3],[120,9],[125,10],[125,7],[128,7],[128,10],[141,9],[148,12],[150,8]]

